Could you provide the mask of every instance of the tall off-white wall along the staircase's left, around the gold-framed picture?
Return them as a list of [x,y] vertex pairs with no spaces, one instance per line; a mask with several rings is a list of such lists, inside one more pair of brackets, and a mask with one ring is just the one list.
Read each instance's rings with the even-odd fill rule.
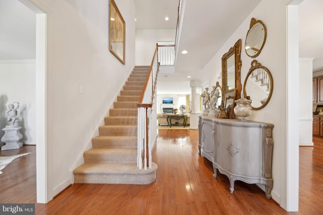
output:
[[84,150],[134,67],[135,7],[132,0],[115,1],[126,22],[124,65],[109,51],[110,1],[31,1],[47,12],[46,160],[52,197],[73,183],[73,169],[83,163]]

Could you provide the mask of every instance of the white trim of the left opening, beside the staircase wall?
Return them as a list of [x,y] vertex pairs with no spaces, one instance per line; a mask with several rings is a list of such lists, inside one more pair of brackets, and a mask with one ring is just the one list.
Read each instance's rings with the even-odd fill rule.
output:
[[46,14],[30,0],[18,0],[36,14],[36,187],[37,202],[47,203],[46,171]]

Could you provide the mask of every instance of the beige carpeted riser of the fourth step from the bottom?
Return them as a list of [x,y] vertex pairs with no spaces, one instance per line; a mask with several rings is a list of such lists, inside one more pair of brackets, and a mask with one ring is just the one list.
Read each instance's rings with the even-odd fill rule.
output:
[[99,135],[134,136],[137,135],[137,125],[102,125],[99,126]]

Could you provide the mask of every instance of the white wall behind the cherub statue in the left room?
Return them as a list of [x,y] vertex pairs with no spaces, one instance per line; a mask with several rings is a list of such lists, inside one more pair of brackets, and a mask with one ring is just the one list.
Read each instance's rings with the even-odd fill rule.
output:
[[0,138],[5,134],[1,129],[8,125],[8,105],[19,102],[20,141],[35,145],[35,60],[0,60],[0,77]]

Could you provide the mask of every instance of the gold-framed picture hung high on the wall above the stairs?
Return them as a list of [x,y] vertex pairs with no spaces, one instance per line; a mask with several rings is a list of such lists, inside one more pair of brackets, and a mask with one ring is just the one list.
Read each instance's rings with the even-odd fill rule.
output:
[[110,0],[110,51],[123,64],[125,60],[126,48],[126,23],[114,0]]

